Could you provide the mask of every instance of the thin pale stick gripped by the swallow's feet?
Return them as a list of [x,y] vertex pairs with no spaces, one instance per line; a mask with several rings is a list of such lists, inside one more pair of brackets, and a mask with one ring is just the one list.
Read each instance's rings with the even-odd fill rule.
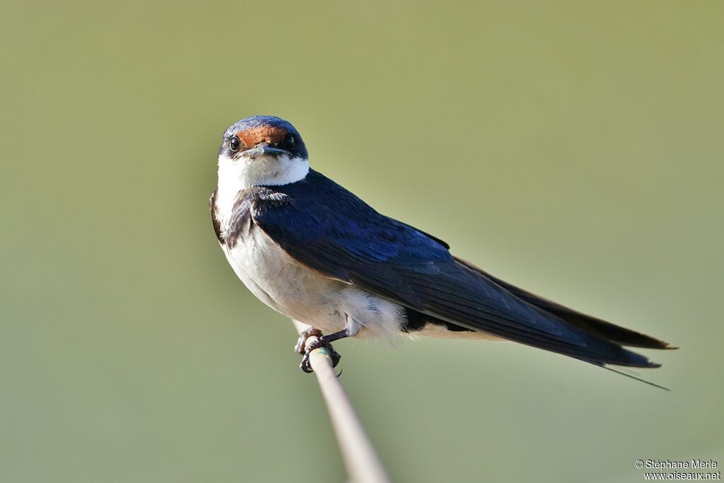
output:
[[[292,320],[300,334],[308,329],[308,325]],[[309,337],[306,344],[316,340]],[[342,459],[347,468],[350,482],[355,483],[388,483],[390,476],[384,471],[372,443],[369,440],[360,420],[355,413],[347,393],[342,388],[337,374],[332,368],[332,358],[327,348],[313,350],[309,360],[316,374],[321,394],[327,403],[329,419],[332,420],[334,434],[342,451]]]

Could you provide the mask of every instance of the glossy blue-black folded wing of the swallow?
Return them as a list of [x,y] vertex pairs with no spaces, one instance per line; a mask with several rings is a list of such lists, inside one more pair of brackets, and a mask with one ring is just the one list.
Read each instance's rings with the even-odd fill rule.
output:
[[253,202],[253,222],[327,277],[461,327],[594,364],[657,366],[514,295],[455,259],[442,240],[384,217],[319,173],[270,193]]

